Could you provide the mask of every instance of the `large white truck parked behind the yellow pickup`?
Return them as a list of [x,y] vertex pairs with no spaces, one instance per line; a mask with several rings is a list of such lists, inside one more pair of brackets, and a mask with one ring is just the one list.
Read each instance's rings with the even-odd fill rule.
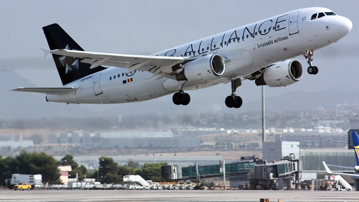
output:
[[13,174],[11,179],[5,180],[6,186],[13,189],[15,185],[27,183],[31,185],[31,189],[41,187],[42,175],[25,175],[25,174]]

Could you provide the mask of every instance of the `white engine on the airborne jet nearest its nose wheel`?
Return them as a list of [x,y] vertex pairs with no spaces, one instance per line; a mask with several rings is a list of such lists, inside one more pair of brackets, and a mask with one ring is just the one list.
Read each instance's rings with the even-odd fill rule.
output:
[[298,82],[303,76],[303,67],[299,61],[286,60],[265,69],[263,75],[256,79],[257,86],[288,86]]

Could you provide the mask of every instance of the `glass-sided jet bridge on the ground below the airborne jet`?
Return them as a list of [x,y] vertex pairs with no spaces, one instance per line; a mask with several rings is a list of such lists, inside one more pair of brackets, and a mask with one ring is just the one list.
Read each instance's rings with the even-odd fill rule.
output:
[[[264,189],[276,189],[279,179],[298,178],[299,159],[288,159],[274,163],[265,160],[251,159],[241,162],[219,162],[214,165],[196,165],[175,167],[164,165],[161,167],[162,179],[189,179],[200,182],[205,178],[223,178],[223,175],[246,175],[254,187],[260,185]],[[224,164],[224,169],[223,169]]]

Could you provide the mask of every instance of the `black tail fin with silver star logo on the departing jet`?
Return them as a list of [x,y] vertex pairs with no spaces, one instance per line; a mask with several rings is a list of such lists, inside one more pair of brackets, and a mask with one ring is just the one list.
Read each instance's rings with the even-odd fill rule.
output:
[[[43,27],[42,29],[44,31],[50,50],[67,49],[67,50],[84,51],[84,49],[82,49],[80,45],[77,44],[74,41],[74,39],[72,39],[70,35],[67,34],[60,27],[60,25],[51,24],[51,25],[47,25],[46,27]],[[46,51],[45,51],[45,56],[46,56]],[[94,69],[90,69],[91,64],[81,63],[80,58],[60,56],[56,54],[52,54],[52,57],[53,60],[55,61],[57,71],[59,72],[62,85],[66,85],[67,83],[78,80],[79,78],[106,69],[101,66]]]

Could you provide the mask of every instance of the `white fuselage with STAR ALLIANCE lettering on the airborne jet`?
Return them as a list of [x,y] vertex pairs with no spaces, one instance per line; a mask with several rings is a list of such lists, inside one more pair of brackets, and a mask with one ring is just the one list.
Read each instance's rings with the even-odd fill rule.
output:
[[[269,64],[299,56],[304,51],[325,47],[348,34],[351,29],[350,27],[348,30],[348,24],[351,22],[343,16],[328,15],[311,20],[313,14],[321,12],[331,10],[294,10],[153,55],[193,57],[215,53],[227,58],[225,71],[221,76],[208,82],[187,81],[183,90],[210,87],[247,76]],[[156,80],[149,72],[134,71],[126,75],[126,70],[107,68],[65,85],[79,87],[70,95],[47,95],[47,100],[67,103],[126,103],[168,95],[178,91],[181,86],[178,81],[166,77]]]

